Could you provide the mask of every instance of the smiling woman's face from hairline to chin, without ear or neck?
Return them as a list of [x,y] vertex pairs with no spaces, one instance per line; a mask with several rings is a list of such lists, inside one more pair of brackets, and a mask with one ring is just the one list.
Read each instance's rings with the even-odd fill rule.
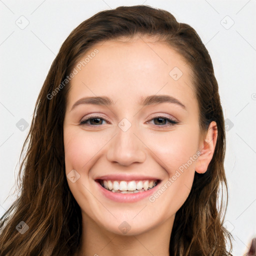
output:
[[81,61],[63,132],[67,182],[83,221],[133,235],[171,225],[203,145],[188,64],[145,39],[95,44]]

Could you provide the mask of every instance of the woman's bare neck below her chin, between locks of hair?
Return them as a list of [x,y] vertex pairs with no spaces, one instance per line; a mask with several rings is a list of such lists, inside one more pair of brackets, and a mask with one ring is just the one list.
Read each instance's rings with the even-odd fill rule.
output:
[[169,256],[174,216],[143,233],[120,235],[98,226],[82,212],[82,234],[76,256]]

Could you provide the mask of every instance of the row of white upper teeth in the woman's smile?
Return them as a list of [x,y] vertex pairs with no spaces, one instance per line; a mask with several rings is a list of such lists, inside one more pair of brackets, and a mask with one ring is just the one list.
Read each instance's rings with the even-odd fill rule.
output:
[[144,190],[147,190],[148,188],[152,188],[156,185],[156,180],[131,180],[131,181],[124,181],[124,180],[101,180],[101,185],[103,185],[108,190],[120,190],[120,191],[135,191],[135,190],[141,190],[142,188]]

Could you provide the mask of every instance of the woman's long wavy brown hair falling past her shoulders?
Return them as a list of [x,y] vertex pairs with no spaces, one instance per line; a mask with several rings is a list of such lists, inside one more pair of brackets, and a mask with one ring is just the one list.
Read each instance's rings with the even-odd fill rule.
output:
[[[61,45],[40,90],[22,147],[25,156],[18,172],[20,195],[0,219],[1,256],[67,256],[77,251],[81,212],[66,181],[63,147],[70,82],[59,85],[96,42],[135,35],[156,36],[185,59],[193,72],[200,128],[204,131],[211,121],[217,123],[213,157],[205,173],[195,172],[188,198],[175,214],[169,253],[228,255],[227,240],[231,251],[231,235],[223,227],[227,204],[224,119],[210,56],[191,26],[177,22],[166,10],[136,5],[96,13],[79,24]],[[54,90],[57,93],[52,93]],[[16,226],[23,228],[25,224],[28,229],[18,232]]]

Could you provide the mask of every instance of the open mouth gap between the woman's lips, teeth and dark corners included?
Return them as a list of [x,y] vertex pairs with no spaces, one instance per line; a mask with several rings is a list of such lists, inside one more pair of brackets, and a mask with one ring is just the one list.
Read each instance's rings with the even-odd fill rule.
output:
[[97,179],[97,181],[105,189],[114,193],[139,193],[152,189],[156,186],[160,180],[102,180]]

